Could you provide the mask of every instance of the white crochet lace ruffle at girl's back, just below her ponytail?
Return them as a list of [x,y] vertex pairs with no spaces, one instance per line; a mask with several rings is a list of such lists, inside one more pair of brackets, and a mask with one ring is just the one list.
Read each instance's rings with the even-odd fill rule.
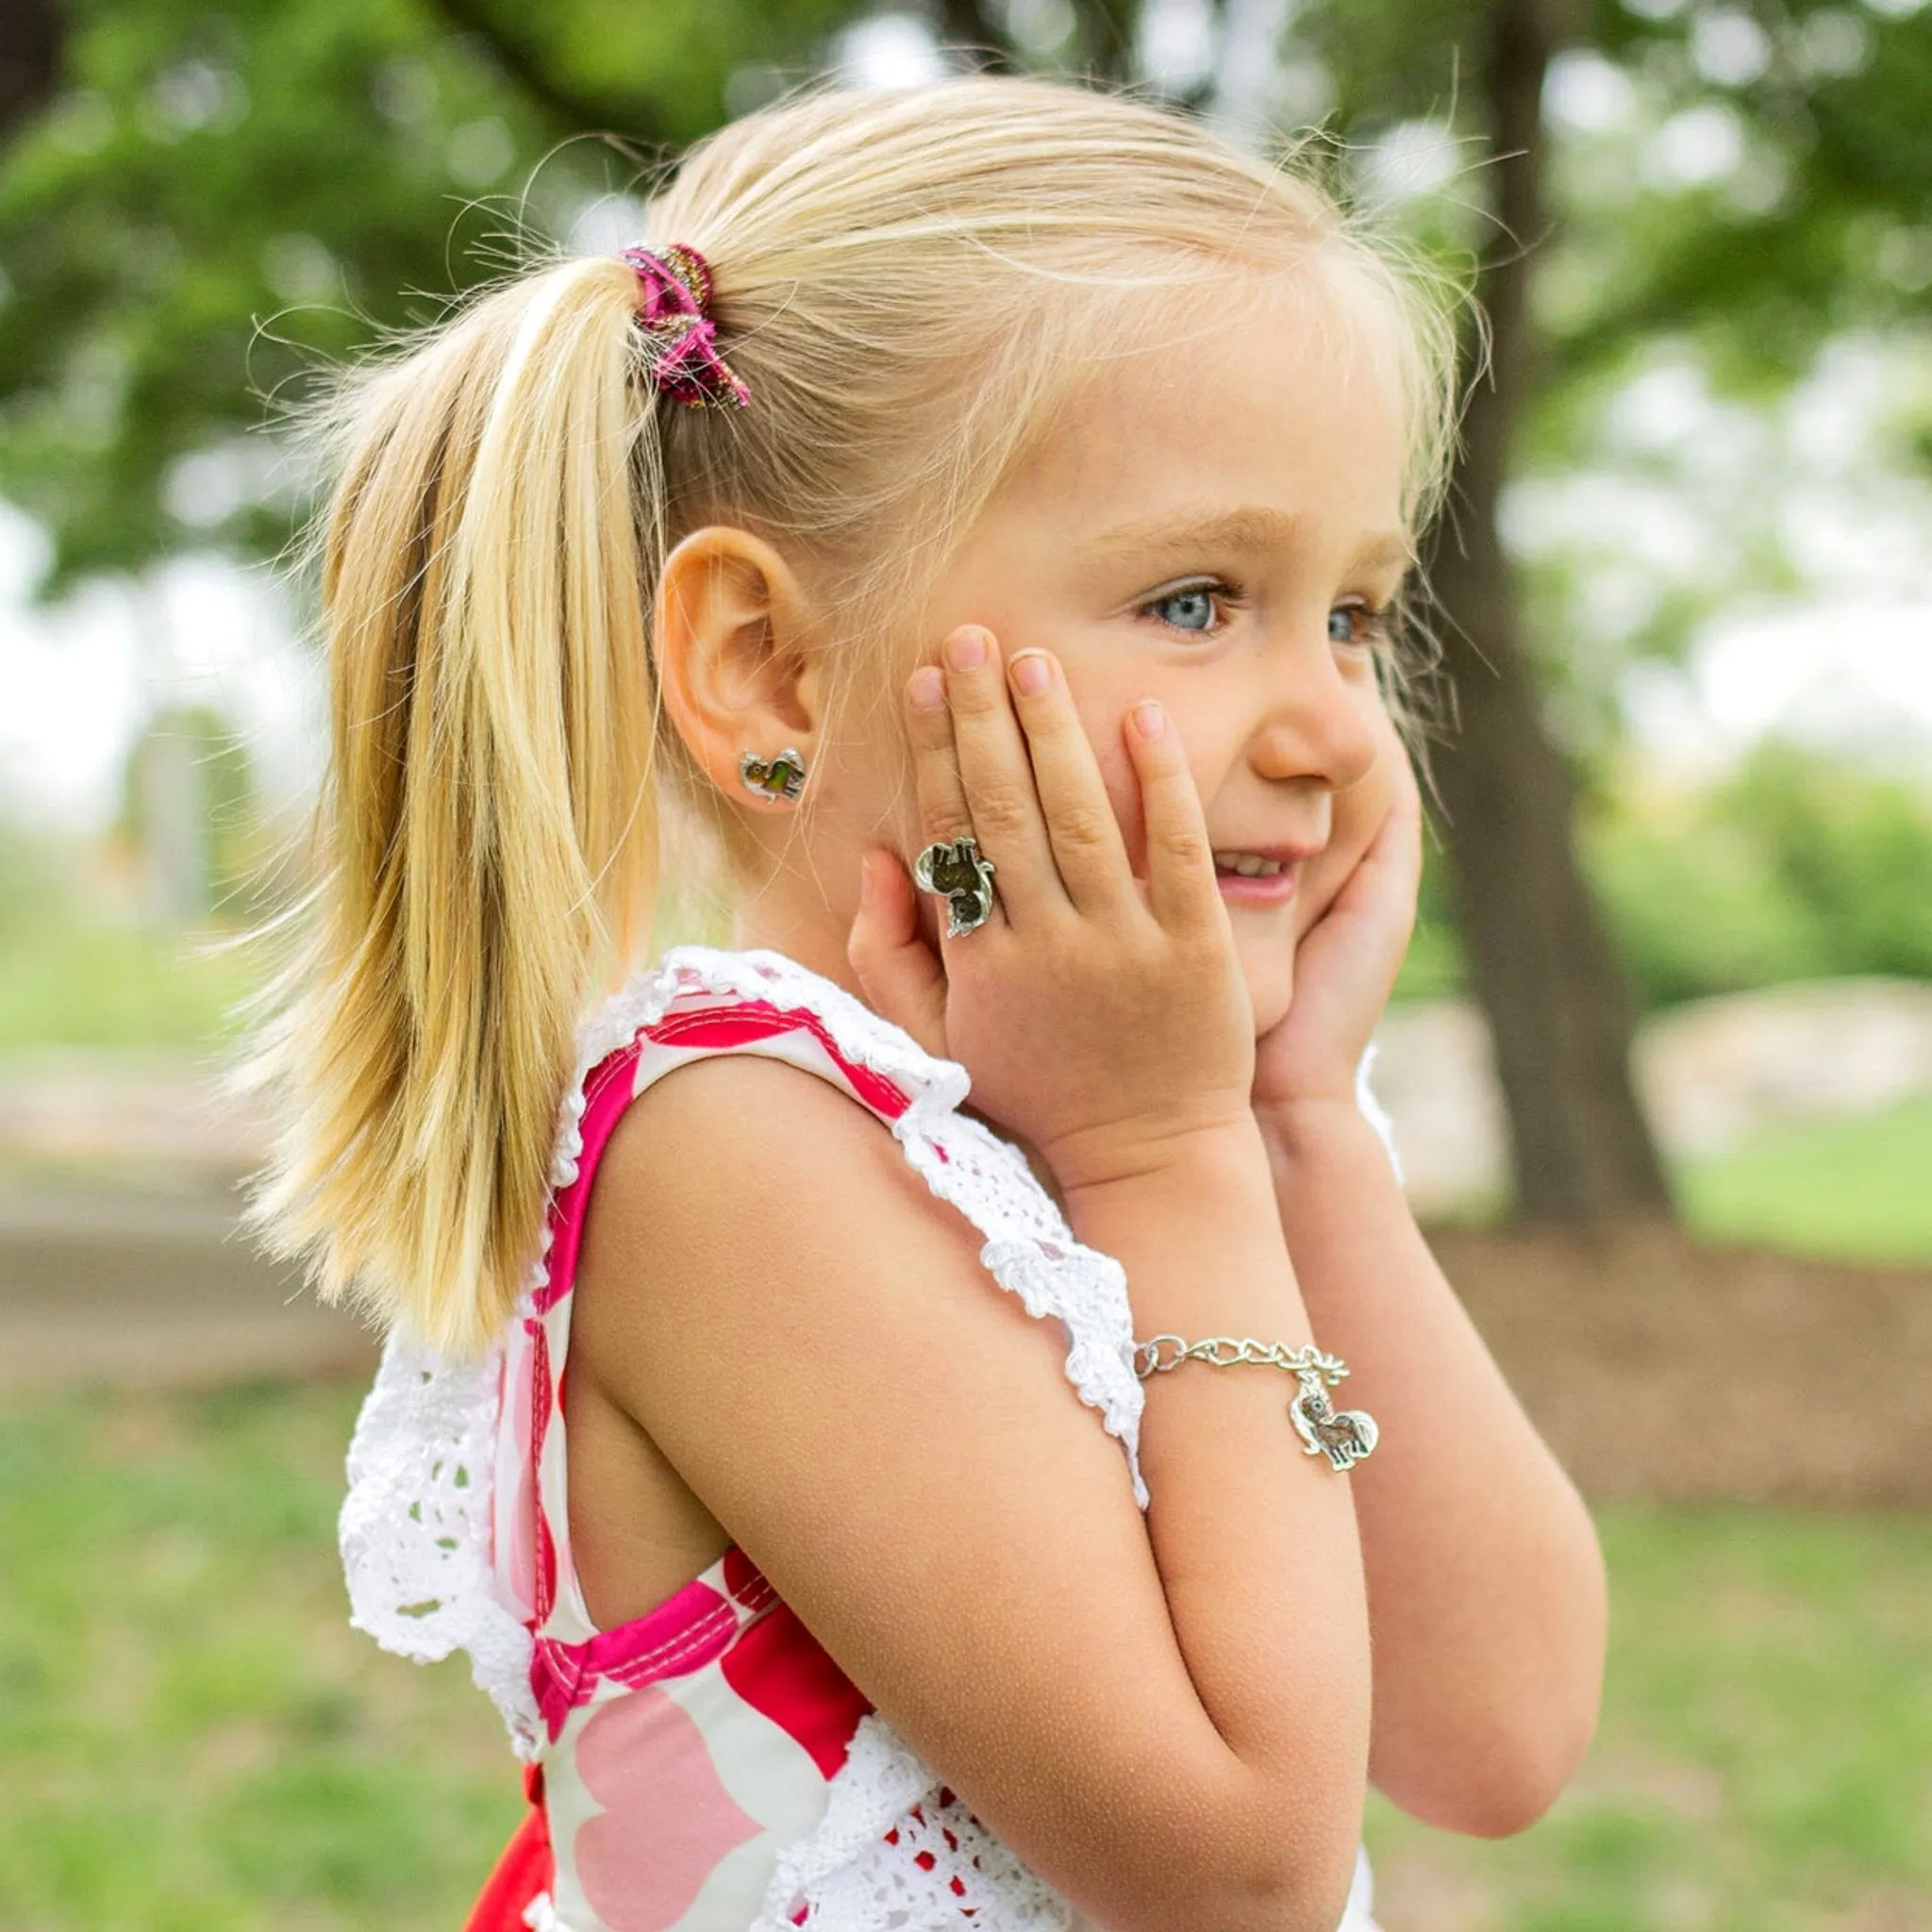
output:
[[529,1633],[491,1580],[491,1470],[502,1354],[450,1362],[392,1333],[350,1439],[336,1534],[350,1623],[435,1663],[469,1652],[520,1758],[537,1754]]

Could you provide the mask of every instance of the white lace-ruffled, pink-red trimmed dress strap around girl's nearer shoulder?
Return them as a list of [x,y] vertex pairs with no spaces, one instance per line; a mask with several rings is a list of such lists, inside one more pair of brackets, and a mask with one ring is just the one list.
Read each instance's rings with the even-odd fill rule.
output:
[[[560,1482],[560,1457],[551,1457],[551,1482],[541,1470],[589,1180],[624,1107],[672,1066],[715,1053],[790,1061],[891,1128],[931,1192],[980,1231],[999,1287],[1061,1321],[1066,1376],[1121,1443],[1136,1501],[1148,1501],[1126,1275],[1072,1238],[1014,1146],[958,1111],[966,1070],[782,954],[674,947],[580,1030],[551,1208],[510,1329],[479,1364],[394,1331],[350,1447],[338,1526],[350,1621],[419,1662],[468,1650],[524,1756],[541,1737],[533,1629],[560,1602],[587,1627],[554,1542],[564,1513],[541,1507],[541,1492]],[[518,1577],[529,1582],[516,1586]]]

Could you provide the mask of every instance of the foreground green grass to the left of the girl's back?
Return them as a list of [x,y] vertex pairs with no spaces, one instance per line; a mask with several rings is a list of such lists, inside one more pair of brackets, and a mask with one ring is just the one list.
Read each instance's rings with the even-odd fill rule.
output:
[[357,1391],[0,1414],[0,1926],[458,1926],[520,1810],[462,1663],[348,1629]]

